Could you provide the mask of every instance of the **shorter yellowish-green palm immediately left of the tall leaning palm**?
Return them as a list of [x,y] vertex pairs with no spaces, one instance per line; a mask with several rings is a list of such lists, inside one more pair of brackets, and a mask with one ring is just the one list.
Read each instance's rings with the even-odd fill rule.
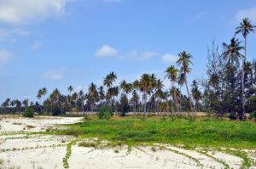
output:
[[[174,65],[171,65],[166,69],[166,77],[171,81],[171,91],[174,91],[174,88],[175,88],[174,85],[175,85],[175,82],[177,81],[177,71],[178,70],[175,68]],[[177,107],[177,98],[176,98],[175,92],[172,93],[172,112],[174,112],[173,101],[175,102]]]

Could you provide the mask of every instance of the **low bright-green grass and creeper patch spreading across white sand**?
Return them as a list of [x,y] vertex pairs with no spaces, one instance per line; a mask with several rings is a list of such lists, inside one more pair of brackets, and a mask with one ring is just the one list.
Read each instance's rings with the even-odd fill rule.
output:
[[[56,131],[55,131],[56,132]],[[256,123],[213,118],[114,116],[111,120],[89,120],[67,125],[56,133],[99,138],[124,144],[174,144],[187,148],[256,148]]]

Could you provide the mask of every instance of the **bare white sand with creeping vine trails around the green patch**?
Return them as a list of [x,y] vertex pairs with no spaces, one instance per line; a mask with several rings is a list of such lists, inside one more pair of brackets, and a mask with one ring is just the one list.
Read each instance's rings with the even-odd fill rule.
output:
[[[77,117],[45,116],[33,119],[0,116],[0,119],[0,168],[13,169],[64,168],[63,158],[67,154],[67,144],[76,138],[29,132],[45,131],[49,127],[59,127],[59,124],[81,121],[81,118]],[[247,152],[250,158],[256,159],[254,150],[250,149]],[[131,149],[127,146],[95,149],[74,144],[72,155],[67,161],[69,168],[72,169],[193,169],[225,168],[226,165],[238,169],[242,165],[242,159],[234,155],[216,151],[202,153],[200,149],[181,149],[168,144],[145,145]]]

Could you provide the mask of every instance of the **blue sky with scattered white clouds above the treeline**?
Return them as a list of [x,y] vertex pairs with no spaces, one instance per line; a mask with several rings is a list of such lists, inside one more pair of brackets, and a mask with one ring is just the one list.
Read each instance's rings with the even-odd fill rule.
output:
[[[189,81],[202,78],[212,40],[229,42],[244,17],[256,24],[255,0],[0,0],[0,11],[0,102],[86,89],[112,70],[164,80],[182,50],[194,56]],[[250,60],[255,44],[250,35]]]

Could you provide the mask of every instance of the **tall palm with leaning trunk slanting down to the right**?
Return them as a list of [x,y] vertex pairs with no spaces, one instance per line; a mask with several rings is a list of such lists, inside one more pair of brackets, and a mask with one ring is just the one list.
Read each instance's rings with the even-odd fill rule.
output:
[[188,93],[188,97],[189,97],[190,108],[191,108],[191,111],[195,113],[194,105],[190,98],[188,81],[187,81],[187,74],[189,74],[191,72],[191,68],[189,68],[189,65],[192,64],[192,62],[191,62],[192,55],[187,53],[186,51],[183,51],[180,54],[178,54],[178,57],[179,58],[177,59],[177,65],[181,66],[180,71],[183,74],[184,83],[186,85],[186,89],[187,89],[187,93]]

